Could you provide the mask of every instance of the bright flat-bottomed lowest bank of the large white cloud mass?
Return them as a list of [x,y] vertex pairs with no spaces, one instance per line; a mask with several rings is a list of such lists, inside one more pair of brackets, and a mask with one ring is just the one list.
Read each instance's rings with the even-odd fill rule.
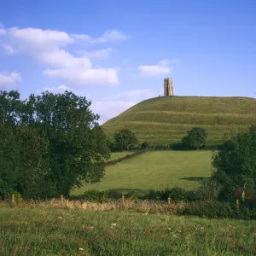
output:
[[115,85],[119,84],[115,68],[97,69],[47,69],[44,75],[52,78],[66,80],[77,85]]

